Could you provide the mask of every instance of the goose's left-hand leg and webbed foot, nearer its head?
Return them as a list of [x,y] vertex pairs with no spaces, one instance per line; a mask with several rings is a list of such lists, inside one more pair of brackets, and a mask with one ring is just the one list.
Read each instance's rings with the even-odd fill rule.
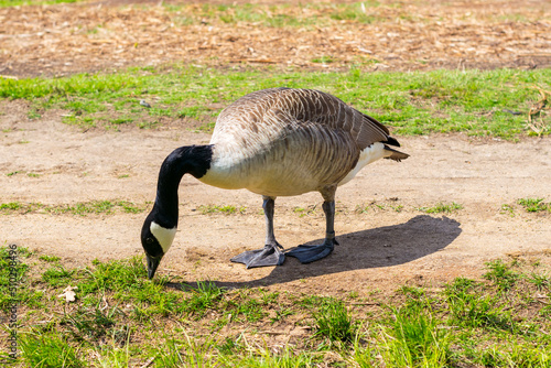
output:
[[263,249],[248,250],[231,258],[231,262],[245,263],[248,269],[253,267],[280,266],[285,260],[285,255],[281,251],[283,247],[276,240],[273,235],[273,208],[274,197],[262,196],[266,216],[266,245]]

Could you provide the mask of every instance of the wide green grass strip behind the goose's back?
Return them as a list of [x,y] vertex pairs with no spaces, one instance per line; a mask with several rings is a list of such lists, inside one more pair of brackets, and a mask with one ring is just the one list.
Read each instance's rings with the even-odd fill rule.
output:
[[[393,127],[396,134],[465,132],[516,139],[534,134],[527,128],[528,111],[540,98],[533,87],[549,89],[550,84],[551,69],[322,73],[251,68],[233,73],[174,66],[170,71],[131,68],[118,74],[0,79],[0,97],[29,99],[34,111],[65,109],[69,111],[65,121],[83,127],[150,128],[160,125],[160,117],[169,117],[198,121],[208,131],[220,105],[262,88],[303,87],[336,95]],[[142,98],[158,102],[145,109],[139,105]]]

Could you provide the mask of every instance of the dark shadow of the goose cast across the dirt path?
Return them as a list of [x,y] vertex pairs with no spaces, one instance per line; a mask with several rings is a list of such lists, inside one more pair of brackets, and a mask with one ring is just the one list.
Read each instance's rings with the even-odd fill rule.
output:
[[[255,288],[285,283],[345,271],[403,264],[444,249],[462,232],[461,224],[447,217],[419,215],[407,223],[348,232],[337,236],[341,243],[327,258],[301,264],[287,257],[282,266],[274,267],[267,277],[244,281],[214,281],[218,288]],[[321,243],[323,239],[307,242]],[[185,283],[195,288],[196,282]],[[172,288],[182,285],[172,284]]]

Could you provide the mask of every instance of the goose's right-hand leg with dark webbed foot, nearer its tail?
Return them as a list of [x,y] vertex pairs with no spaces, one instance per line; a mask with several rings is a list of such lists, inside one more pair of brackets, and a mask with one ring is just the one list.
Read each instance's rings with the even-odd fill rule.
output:
[[335,188],[328,193],[322,192],[325,202],[323,203],[323,212],[325,213],[326,230],[325,241],[315,246],[299,246],[295,249],[288,251],[285,255],[294,257],[301,263],[311,263],[331,255],[335,245],[338,245],[335,239]]

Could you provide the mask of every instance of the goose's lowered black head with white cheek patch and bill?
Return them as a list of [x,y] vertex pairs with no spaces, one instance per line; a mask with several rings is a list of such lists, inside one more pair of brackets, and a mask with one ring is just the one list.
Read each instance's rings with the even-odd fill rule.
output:
[[161,221],[155,218],[156,214],[158,212],[153,207],[141,229],[141,245],[148,259],[148,278],[150,280],[153,279],[161,259],[169,251],[176,235],[176,227],[162,226]]

